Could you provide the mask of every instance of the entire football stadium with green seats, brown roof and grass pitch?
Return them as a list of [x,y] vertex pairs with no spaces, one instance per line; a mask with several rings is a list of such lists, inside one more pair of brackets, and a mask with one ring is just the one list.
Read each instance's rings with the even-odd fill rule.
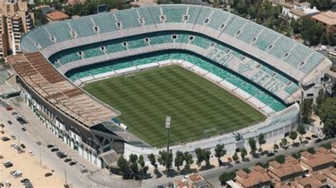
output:
[[228,153],[296,129],[302,98],[331,61],[216,8],[158,5],[35,28],[8,58],[27,105],[55,136],[98,167],[115,154],[201,147]]

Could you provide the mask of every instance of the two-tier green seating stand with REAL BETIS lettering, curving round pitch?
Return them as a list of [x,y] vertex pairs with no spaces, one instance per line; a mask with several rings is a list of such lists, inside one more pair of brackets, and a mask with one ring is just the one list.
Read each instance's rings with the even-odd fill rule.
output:
[[[186,26],[188,24],[194,26]],[[155,30],[148,28],[148,31],[152,30],[152,32],[144,34],[144,31],[139,29],[144,25],[148,27],[154,25]],[[188,31],[184,30],[184,27],[188,28]],[[129,32],[125,33],[123,38],[112,35],[131,29],[135,29],[134,36],[131,36]],[[137,30],[142,33],[135,35]],[[201,33],[202,30],[204,30],[203,33]],[[105,40],[101,40],[101,37],[94,37],[100,34],[114,37],[106,37]],[[221,36],[225,36],[224,38],[230,36],[232,41],[227,43],[222,40]],[[82,38],[89,39],[88,43],[83,42]],[[96,41],[92,42],[94,39]],[[82,44],[77,44],[77,40],[82,41]],[[240,42],[245,44],[243,50],[237,45]],[[62,47],[69,49],[52,49],[59,43],[62,43]],[[78,47],[80,45],[84,46]],[[114,54],[121,52],[143,53],[146,49],[157,49],[155,46],[164,46],[167,49],[189,49],[189,51],[197,49],[196,54],[201,54],[208,60],[200,61],[198,57],[190,54],[173,53],[164,54],[164,57],[142,58],[141,61],[121,63],[118,62],[119,60],[113,60],[111,67],[108,66],[106,70],[149,64],[152,61],[167,59],[167,57],[189,61],[220,78],[225,78],[226,81],[256,96],[274,110],[281,110],[283,109],[282,103],[273,100],[274,98],[269,93],[289,102],[286,99],[300,89],[301,81],[306,77],[306,80],[310,81],[313,70],[325,61],[323,55],[264,28],[262,25],[215,8],[193,5],[148,6],[99,13],[94,16],[44,25],[28,33],[21,40],[23,51],[45,52],[46,57],[57,69],[67,71],[69,71],[68,68],[63,68],[63,66],[70,67],[68,65],[72,62],[84,64],[85,59],[92,59],[89,62],[94,62],[94,59],[102,59],[105,56],[111,58]],[[133,50],[136,51],[133,52]],[[209,64],[208,61],[215,62],[215,65]],[[89,68],[86,69],[85,72],[70,78],[74,80],[85,75],[100,74],[101,71],[98,68],[92,71],[89,71]],[[260,88],[250,86],[247,81],[252,81],[253,85]],[[303,83],[308,84],[307,81]],[[295,99],[291,98],[290,102],[293,100]]]

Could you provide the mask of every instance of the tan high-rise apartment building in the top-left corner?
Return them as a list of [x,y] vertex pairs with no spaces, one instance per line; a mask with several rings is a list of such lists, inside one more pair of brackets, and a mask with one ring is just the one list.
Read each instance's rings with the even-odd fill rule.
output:
[[0,0],[0,57],[20,52],[21,37],[34,28],[34,16],[24,0]]

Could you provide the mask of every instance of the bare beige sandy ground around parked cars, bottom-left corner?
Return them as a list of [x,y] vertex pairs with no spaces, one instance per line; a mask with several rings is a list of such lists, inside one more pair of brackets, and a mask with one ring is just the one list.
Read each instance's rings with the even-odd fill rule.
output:
[[[0,134],[0,136],[10,137],[8,131],[5,134]],[[52,170],[47,165],[40,165],[40,161],[37,158],[29,155],[29,148],[25,149],[25,153],[19,154],[16,149],[11,148],[12,143],[18,143],[18,139],[10,141],[0,140],[0,155],[4,156],[0,159],[0,182],[9,181],[11,187],[23,187],[21,180],[23,178],[28,178],[33,184],[33,187],[63,187],[64,180],[53,174],[50,177],[45,177],[45,173],[52,172]],[[4,161],[11,161],[13,167],[5,168],[2,163]],[[22,172],[22,176],[18,178],[13,178],[10,172],[13,170],[19,170]]]

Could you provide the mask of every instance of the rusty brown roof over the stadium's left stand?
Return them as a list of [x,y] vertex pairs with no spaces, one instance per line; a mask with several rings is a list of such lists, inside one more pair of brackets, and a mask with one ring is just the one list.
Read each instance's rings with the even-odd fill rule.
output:
[[38,95],[85,127],[90,128],[120,114],[74,86],[40,52],[18,54],[8,60],[17,74]]

